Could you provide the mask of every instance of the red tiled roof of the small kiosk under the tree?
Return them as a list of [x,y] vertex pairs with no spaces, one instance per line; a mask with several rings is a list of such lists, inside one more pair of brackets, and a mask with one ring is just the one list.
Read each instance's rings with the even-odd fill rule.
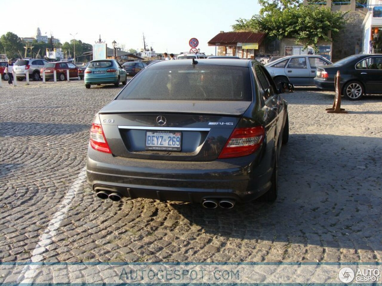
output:
[[210,45],[216,43],[261,43],[264,39],[265,33],[253,33],[253,32],[225,32],[219,33],[211,40]]

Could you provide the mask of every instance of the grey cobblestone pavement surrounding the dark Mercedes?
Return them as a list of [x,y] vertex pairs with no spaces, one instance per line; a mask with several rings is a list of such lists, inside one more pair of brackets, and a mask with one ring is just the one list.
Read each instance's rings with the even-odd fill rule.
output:
[[[92,117],[121,89],[83,82],[0,88],[0,262],[380,262],[382,98],[296,88],[274,204],[98,199],[83,168]],[[65,196],[77,182],[73,199]],[[65,199],[64,199],[65,198]],[[60,204],[62,222],[47,234]],[[52,230],[52,229],[51,229]],[[52,243],[44,245],[46,238]]]

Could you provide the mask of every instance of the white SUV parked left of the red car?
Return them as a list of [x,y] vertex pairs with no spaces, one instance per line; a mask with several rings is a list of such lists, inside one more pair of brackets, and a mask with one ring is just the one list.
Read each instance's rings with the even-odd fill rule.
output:
[[13,65],[13,76],[17,80],[23,80],[26,77],[26,71],[32,80],[40,80],[40,70],[44,64],[48,63],[45,59],[19,59]]

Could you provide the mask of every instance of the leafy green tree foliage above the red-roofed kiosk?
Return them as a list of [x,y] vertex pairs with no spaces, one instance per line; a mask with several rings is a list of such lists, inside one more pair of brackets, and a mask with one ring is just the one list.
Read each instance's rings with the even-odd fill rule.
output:
[[265,32],[277,39],[295,38],[305,48],[317,48],[319,40],[330,42],[345,20],[342,12],[332,12],[318,5],[302,5],[299,0],[259,0],[259,14],[251,19],[238,19],[234,31]]

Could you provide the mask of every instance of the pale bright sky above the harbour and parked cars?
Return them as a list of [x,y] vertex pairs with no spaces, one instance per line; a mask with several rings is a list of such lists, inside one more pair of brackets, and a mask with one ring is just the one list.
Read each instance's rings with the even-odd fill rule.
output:
[[94,44],[101,35],[110,48],[115,40],[125,50],[140,50],[144,34],[149,48],[157,53],[174,54],[189,51],[189,39],[197,38],[201,52],[215,55],[215,47],[209,47],[207,42],[220,31],[232,31],[237,19],[250,19],[260,10],[256,0],[43,0],[38,3],[0,0],[0,7],[10,12],[2,13],[2,23],[7,24],[0,25],[0,36],[13,32],[19,37],[36,37],[39,27],[42,35],[52,34],[61,43],[73,39],[72,34],[76,40]]

